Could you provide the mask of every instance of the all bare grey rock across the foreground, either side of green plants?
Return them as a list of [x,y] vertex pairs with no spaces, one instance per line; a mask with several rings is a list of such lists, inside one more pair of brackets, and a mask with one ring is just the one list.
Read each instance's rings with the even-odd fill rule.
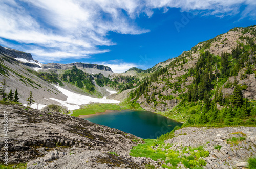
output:
[[[1,120],[8,115],[8,164],[26,163],[27,168],[162,168],[165,161],[131,157],[130,149],[142,139],[123,131],[94,124],[61,113],[49,113],[18,105],[0,105]],[[204,146],[209,152],[204,168],[242,168],[256,155],[255,127],[218,129],[182,128],[175,131],[168,149],[190,156],[189,147]],[[4,163],[3,132],[0,137],[1,163]],[[231,138],[236,141],[228,141]],[[244,139],[240,139],[244,138]],[[219,149],[215,147],[219,146]],[[187,147],[186,151],[184,148]],[[158,149],[158,146],[152,146]],[[164,151],[164,150],[163,150]],[[167,157],[168,158],[168,157]],[[166,160],[167,160],[166,158]],[[169,167],[185,168],[182,163]]]

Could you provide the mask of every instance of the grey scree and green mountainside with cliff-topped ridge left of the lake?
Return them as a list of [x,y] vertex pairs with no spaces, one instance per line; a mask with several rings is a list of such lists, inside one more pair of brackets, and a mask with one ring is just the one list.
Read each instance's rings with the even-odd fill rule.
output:
[[[79,108],[82,104],[79,102],[78,107],[74,107],[73,103],[64,103],[63,101],[69,96],[61,93],[55,86],[66,89],[63,90],[66,93],[73,92],[71,93],[73,96],[82,94],[92,97],[92,99],[87,97],[86,102],[88,102],[139,85],[137,83],[139,78],[113,73],[107,66],[86,63],[41,64],[29,53],[0,46],[0,81],[3,82],[4,79],[7,83],[6,94],[10,89],[12,91],[17,89],[19,102],[25,105],[29,92],[32,91],[35,100],[32,106],[39,109],[44,105],[60,104],[60,102],[68,109]],[[2,92],[2,98],[3,94]],[[81,95],[77,95],[76,98],[81,98]],[[115,102],[104,98],[98,101]]]

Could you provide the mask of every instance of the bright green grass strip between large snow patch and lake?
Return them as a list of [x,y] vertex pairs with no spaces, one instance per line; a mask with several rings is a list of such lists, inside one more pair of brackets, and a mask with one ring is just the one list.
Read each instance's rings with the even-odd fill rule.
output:
[[73,110],[71,116],[78,117],[79,115],[96,114],[100,112],[105,112],[106,110],[123,110],[125,108],[119,106],[118,104],[108,104],[108,103],[95,103],[84,106],[81,109]]

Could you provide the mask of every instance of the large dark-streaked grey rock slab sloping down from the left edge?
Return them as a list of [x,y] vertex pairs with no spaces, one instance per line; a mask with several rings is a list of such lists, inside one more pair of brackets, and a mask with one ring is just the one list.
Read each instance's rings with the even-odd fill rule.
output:
[[[27,168],[144,166],[140,158],[132,159],[129,155],[133,146],[143,142],[132,134],[58,112],[17,105],[0,105],[0,111],[8,116],[9,164],[28,162]],[[0,117],[3,124],[4,115]],[[1,152],[4,152],[4,137],[3,134],[0,137]],[[146,163],[155,162],[148,159]]]

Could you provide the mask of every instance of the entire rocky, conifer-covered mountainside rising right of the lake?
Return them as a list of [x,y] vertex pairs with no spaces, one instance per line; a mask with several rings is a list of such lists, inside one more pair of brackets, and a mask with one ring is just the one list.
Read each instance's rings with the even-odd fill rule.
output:
[[255,124],[256,26],[234,28],[194,46],[143,79],[134,106],[186,124]]

